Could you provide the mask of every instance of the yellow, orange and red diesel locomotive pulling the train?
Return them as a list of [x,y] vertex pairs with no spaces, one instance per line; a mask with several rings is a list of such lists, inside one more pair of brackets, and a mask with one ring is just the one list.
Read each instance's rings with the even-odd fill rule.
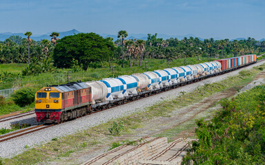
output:
[[90,112],[91,87],[68,83],[43,87],[35,94],[37,122],[61,122]]

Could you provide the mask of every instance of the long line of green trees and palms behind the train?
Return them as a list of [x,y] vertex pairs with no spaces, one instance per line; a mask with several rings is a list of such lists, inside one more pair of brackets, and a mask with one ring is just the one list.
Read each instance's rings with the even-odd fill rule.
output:
[[[184,39],[159,39],[157,34],[148,34],[147,40],[128,39],[126,30],[117,33],[117,41],[108,37],[104,39],[95,33],[75,34],[58,39],[59,33],[52,32],[51,40],[34,41],[32,32],[26,32],[26,39],[21,36],[10,36],[0,42],[0,63],[31,63],[43,61],[46,65],[59,68],[70,68],[74,63],[88,67],[101,67],[102,63],[115,61],[121,67],[141,66],[144,58],[163,58],[168,62],[177,58],[242,56],[265,51],[265,41],[259,43],[248,37],[246,40],[229,41],[184,37]],[[47,64],[48,58],[49,64]],[[75,59],[75,60],[73,60]],[[40,63],[38,65],[41,65]],[[29,67],[30,65],[28,65]],[[30,68],[28,68],[30,69]],[[44,69],[46,70],[46,69]],[[51,69],[54,70],[54,69]]]

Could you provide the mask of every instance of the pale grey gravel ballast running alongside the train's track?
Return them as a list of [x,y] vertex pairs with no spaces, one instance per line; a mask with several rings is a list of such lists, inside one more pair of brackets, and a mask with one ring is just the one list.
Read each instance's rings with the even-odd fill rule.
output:
[[[251,69],[257,65],[264,64],[265,61],[261,63],[256,63],[254,65],[250,65],[248,67],[244,67],[242,69]],[[77,131],[81,131],[84,129],[89,129],[92,126],[97,126],[98,124],[102,124],[108,122],[109,120],[115,118],[121,118],[126,115],[130,115],[135,113],[136,111],[144,111],[146,107],[150,107],[153,104],[162,101],[164,99],[175,98],[179,96],[181,92],[189,92],[193,91],[199,86],[203,86],[205,84],[215,83],[220,80],[224,80],[229,76],[235,76],[238,74],[242,69],[238,69],[234,72],[229,72],[228,74],[223,74],[221,76],[215,76],[213,78],[208,78],[206,80],[202,80],[198,83],[193,83],[190,85],[186,85],[184,87],[179,87],[177,89],[173,89],[170,91],[166,91],[161,94],[157,94],[155,96],[150,96],[148,98],[143,98],[141,100],[137,100],[135,102],[130,102],[128,104],[123,104],[119,107],[114,107],[112,109],[107,109],[106,111],[100,111],[98,113],[93,113],[92,115],[87,115],[83,118],[79,118],[77,120],[72,120],[70,122],[65,122],[63,124],[58,124],[52,126],[48,129],[43,129],[41,131],[37,131],[35,133],[30,133],[29,135],[23,135],[21,137],[14,138],[12,140],[8,140],[6,142],[1,142],[0,144],[0,157],[12,157],[23,151],[26,151],[29,148],[34,147],[35,145],[45,144],[46,142],[52,140],[55,137],[63,137],[65,135],[70,135],[72,133],[76,133]],[[32,116],[25,116],[22,120],[27,120],[28,123],[32,121]],[[33,117],[34,118],[34,117]],[[21,120],[19,118],[18,120]],[[14,122],[14,121],[13,121]],[[2,126],[2,125],[0,125]]]

